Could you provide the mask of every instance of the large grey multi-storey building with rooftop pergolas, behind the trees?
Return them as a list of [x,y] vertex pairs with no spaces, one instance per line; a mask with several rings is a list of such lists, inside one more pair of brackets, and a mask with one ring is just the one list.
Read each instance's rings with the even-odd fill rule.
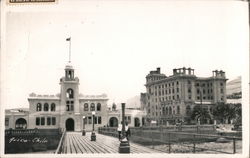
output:
[[173,69],[173,75],[162,74],[160,68],[146,76],[146,93],[141,94],[146,109],[146,122],[175,124],[190,122],[196,105],[212,111],[215,104],[226,103],[226,76],[224,71],[213,71],[211,77],[197,77],[194,69]]

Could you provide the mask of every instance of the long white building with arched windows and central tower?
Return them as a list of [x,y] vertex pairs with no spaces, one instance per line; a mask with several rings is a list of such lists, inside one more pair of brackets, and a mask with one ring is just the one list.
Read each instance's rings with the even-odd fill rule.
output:
[[[5,129],[63,128],[67,131],[92,130],[103,126],[118,126],[122,120],[121,110],[109,110],[107,95],[82,95],[79,79],[74,76],[71,65],[66,65],[65,75],[60,79],[61,91],[57,95],[28,97],[28,109],[5,110]],[[93,120],[93,112],[95,119]],[[141,126],[145,112],[126,109],[129,126]]]

